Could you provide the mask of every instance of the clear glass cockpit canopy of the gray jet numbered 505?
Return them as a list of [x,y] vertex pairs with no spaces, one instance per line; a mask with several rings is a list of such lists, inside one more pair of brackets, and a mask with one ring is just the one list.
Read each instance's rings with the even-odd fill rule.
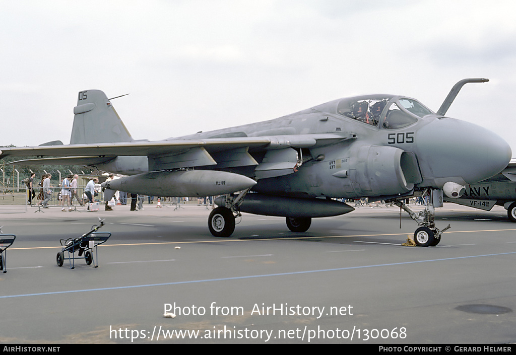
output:
[[359,122],[397,130],[433,112],[414,99],[389,95],[369,95],[338,101],[336,113]]

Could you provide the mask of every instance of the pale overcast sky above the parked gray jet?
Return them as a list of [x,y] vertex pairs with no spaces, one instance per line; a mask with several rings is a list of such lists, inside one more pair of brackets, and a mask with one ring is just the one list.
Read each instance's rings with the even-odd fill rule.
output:
[[[0,145],[70,141],[78,91],[103,90],[135,139],[407,95],[516,156],[516,2],[145,0],[0,3]],[[457,132],[457,134],[461,134]]]

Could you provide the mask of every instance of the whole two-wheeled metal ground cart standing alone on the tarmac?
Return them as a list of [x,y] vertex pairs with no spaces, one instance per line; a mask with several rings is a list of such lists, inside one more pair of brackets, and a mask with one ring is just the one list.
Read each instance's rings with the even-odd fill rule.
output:
[[[69,260],[70,269],[73,269],[75,268],[75,259],[84,259],[87,265],[94,263],[93,267],[99,267],[97,247],[106,243],[106,240],[111,236],[109,232],[97,232],[104,225],[104,220],[99,218],[99,221],[99,225],[93,225],[91,231],[78,238],[60,240],[62,249],[56,256],[57,266],[62,266],[65,260]],[[75,252],[77,252],[77,256],[75,256]],[[95,254],[94,257],[93,253]]]

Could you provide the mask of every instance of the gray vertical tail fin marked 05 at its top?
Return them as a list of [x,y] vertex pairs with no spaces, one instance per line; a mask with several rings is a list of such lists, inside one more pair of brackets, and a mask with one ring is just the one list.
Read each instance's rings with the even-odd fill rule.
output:
[[70,144],[131,142],[133,137],[100,90],[80,91]]

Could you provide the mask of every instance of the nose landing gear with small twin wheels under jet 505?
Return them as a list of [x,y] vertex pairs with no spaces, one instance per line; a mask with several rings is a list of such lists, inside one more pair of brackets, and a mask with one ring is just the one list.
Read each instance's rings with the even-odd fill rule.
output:
[[420,247],[435,247],[441,241],[441,234],[450,228],[446,227],[439,230],[436,227],[435,217],[436,210],[432,204],[427,204],[425,209],[419,213],[415,213],[412,209],[403,202],[404,200],[393,200],[396,206],[405,209],[410,218],[417,222],[420,227],[414,232],[414,243]]

